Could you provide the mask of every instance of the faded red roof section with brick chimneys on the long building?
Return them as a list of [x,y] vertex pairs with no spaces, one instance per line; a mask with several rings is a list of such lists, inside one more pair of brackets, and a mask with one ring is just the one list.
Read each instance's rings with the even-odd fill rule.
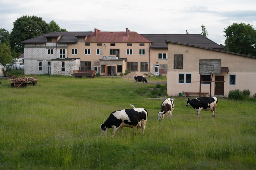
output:
[[151,42],[145,37],[136,32],[129,32],[126,36],[126,32],[107,32],[100,31],[97,37],[94,36],[94,32],[87,37],[86,42]]

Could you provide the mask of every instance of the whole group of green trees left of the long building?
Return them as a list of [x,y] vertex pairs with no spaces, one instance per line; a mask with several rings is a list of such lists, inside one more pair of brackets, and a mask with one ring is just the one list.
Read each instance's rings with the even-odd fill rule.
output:
[[54,20],[46,23],[42,17],[34,15],[23,15],[15,20],[11,33],[0,28],[0,63],[5,65],[24,53],[24,45],[20,44],[21,41],[54,31],[66,32],[67,30],[60,28]]

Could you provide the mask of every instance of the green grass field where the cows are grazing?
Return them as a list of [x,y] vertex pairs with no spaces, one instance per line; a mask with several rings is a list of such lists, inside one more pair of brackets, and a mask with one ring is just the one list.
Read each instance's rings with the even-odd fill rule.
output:
[[[0,169],[256,169],[253,101],[220,99],[215,118],[201,111],[197,119],[187,100],[175,97],[172,120],[159,122],[163,100],[147,99],[156,84],[37,78],[37,86],[18,89],[1,80]],[[112,129],[101,137],[100,124],[130,103],[148,110],[145,134],[124,128],[123,137],[118,130],[112,138]]]

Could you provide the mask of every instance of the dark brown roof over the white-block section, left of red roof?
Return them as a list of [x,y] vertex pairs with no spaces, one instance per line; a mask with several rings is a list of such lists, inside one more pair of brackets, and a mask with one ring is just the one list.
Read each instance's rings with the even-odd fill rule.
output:
[[76,43],[77,38],[75,37],[76,35],[91,35],[92,31],[87,31],[87,32],[51,32],[47,33],[35,38],[31,38],[25,41],[21,41],[21,44],[26,44],[26,43],[45,43],[45,37],[62,37],[57,41],[58,43]]

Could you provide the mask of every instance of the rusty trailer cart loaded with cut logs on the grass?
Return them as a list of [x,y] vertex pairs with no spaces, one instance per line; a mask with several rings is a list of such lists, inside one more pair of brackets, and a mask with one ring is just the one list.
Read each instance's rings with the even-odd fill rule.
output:
[[33,76],[33,77],[23,76],[18,78],[18,76],[9,75],[9,82],[12,83],[11,87],[15,87],[15,89],[17,89],[21,85],[25,87],[27,87],[28,84],[37,85],[37,80],[39,79],[36,79],[36,76]]

